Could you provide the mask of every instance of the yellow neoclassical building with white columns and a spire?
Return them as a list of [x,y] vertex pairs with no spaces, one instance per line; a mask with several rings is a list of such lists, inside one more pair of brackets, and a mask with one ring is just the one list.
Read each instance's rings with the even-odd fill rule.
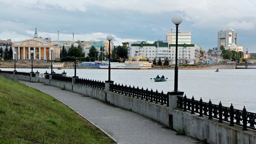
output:
[[[13,42],[13,52],[17,52],[16,59],[28,60],[31,59],[30,51],[33,50],[34,60],[58,60],[60,54],[60,48],[55,47],[52,41],[45,40],[38,37],[37,28],[35,28],[34,38],[29,40],[22,40]],[[50,52],[50,48],[54,48],[53,52]],[[52,53],[52,55],[51,55]],[[14,59],[14,54],[13,54]]]

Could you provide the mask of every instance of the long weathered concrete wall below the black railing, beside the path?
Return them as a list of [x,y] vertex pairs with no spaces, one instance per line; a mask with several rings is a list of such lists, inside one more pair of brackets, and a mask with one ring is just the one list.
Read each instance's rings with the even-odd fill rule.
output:
[[[174,130],[184,129],[187,136],[195,137],[209,144],[255,144],[256,131],[242,130],[241,126],[229,126],[227,122],[218,122],[217,119],[209,120],[208,117],[198,117],[197,114],[183,112],[182,109],[176,108],[176,96],[169,94],[169,107],[156,103],[150,103],[136,97],[114,93],[108,90],[102,90],[89,86],[76,85],[63,81],[52,79],[14,76],[0,74],[15,81],[24,80],[32,82],[40,82],[45,85],[56,86],[61,89],[76,92],[85,96],[93,97],[109,104],[139,113],[150,119],[161,122],[165,126],[171,126]],[[171,109],[169,109],[171,108]]]

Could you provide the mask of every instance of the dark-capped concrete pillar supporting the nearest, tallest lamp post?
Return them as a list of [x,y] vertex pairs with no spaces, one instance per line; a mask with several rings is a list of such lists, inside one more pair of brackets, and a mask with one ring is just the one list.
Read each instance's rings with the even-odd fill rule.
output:
[[184,92],[167,92],[169,99],[169,127],[173,128],[173,109],[177,108],[178,97],[183,97]]

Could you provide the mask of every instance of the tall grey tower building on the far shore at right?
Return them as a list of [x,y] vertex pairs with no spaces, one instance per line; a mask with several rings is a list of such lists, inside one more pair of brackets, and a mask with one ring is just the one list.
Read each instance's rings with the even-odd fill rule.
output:
[[218,31],[218,50],[223,50],[224,47],[230,47],[230,45],[238,44],[237,31],[234,31],[230,27],[224,31]]

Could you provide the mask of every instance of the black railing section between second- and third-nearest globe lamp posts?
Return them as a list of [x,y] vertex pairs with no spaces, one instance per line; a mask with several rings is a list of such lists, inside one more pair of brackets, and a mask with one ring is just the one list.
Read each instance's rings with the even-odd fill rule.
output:
[[90,87],[93,87],[93,88],[98,88],[98,89],[105,90],[104,81],[96,81],[94,79],[90,80],[90,79],[84,79],[84,78],[76,78],[76,84],[90,86]]

